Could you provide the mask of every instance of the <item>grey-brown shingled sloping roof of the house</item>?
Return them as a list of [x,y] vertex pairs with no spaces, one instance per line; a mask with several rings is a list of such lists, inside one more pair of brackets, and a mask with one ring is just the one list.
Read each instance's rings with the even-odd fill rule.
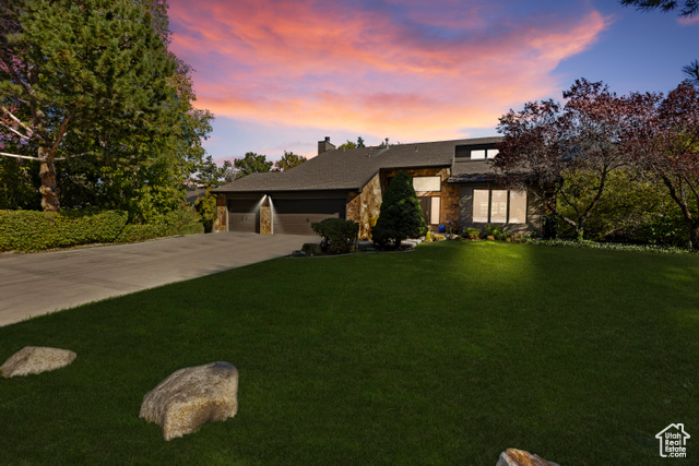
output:
[[216,188],[214,192],[358,191],[381,169],[392,168],[452,167],[449,182],[452,182],[452,178],[453,182],[461,182],[459,180],[473,172],[489,171],[489,163],[455,163],[455,147],[494,144],[500,140],[501,138],[478,138],[394,144],[389,147],[332,150],[286,171],[252,174]]

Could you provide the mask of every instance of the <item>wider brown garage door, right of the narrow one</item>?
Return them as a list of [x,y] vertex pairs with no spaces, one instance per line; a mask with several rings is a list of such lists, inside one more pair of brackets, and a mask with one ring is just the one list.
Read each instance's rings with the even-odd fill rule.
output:
[[344,199],[274,199],[275,235],[315,235],[310,224],[344,217]]

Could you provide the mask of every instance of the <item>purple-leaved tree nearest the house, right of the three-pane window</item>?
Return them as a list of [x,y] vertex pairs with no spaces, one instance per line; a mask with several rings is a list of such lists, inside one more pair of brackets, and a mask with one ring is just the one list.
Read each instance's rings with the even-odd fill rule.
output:
[[498,181],[509,189],[535,187],[530,192],[582,239],[607,177],[628,164],[620,142],[642,111],[603,83],[584,79],[564,97],[565,106],[550,99],[534,101],[502,116],[498,131],[505,138],[493,165]]

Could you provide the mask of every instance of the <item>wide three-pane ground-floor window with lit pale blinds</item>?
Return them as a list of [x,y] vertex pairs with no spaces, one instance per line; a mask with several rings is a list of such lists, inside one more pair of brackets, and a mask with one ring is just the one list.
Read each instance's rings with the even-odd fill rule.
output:
[[473,222],[483,224],[526,223],[526,192],[474,189]]

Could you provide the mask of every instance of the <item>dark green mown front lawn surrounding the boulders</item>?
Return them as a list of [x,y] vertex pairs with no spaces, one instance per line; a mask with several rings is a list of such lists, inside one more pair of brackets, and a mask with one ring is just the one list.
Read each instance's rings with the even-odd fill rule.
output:
[[[442,242],[84,306],[0,328],[0,361],[78,353],[0,379],[0,463],[697,464],[698,283],[695,255]],[[240,372],[235,418],[170,442],[139,419],[165,377],[215,360]],[[671,422],[686,461],[659,456]]]

